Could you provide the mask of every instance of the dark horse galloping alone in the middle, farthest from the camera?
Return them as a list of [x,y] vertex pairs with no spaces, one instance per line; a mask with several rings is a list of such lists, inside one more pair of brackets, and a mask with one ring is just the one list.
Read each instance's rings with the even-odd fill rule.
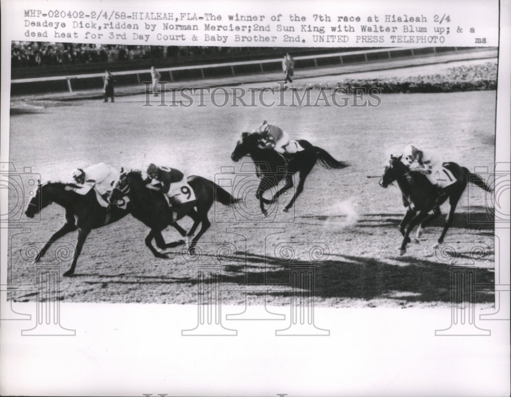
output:
[[[342,169],[348,165],[345,162],[337,161],[326,150],[312,146],[311,143],[301,139],[297,141],[305,150],[296,152],[286,165],[284,158],[271,148],[261,148],[262,135],[258,132],[243,132],[233,154],[230,158],[239,161],[242,157],[249,155],[255,164],[257,176],[261,178],[255,197],[259,199],[261,212],[266,215],[267,210],[264,204],[272,204],[285,191],[293,187],[293,175],[299,172],[300,181],[291,201],[283,209],[288,212],[296,198],[304,190],[304,183],[307,175],[319,160],[319,164],[328,170]],[[284,187],[277,191],[271,200],[263,198],[268,189],[276,186],[281,180],[285,181]]]

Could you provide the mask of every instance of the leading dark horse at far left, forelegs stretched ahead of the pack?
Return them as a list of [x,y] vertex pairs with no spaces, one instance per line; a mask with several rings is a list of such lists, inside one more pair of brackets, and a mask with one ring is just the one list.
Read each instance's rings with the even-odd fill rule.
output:
[[87,238],[90,230],[101,226],[108,225],[118,221],[128,214],[128,211],[118,207],[109,209],[102,207],[97,199],[94,190],[90,190],[86,195],[79,195],[75,192],[65,190],[66,186],[75,186],[73,184],[65,184],[61,182],[47,182],[39,184],[35,196],[30,200],[25,215],[33,218],[42,208],[47,207],[55,202],[65,209],[65,223],[54,235],[50,241],[44,245],[42,250],[37,254],[35,262],[38,262],[46,253],[48,248],[71,231],[78,229],[78,241],[73,257],[71,268],[64,273],[64,276],[71,276],[75,272],[78,256],[82,251],[83,243]]

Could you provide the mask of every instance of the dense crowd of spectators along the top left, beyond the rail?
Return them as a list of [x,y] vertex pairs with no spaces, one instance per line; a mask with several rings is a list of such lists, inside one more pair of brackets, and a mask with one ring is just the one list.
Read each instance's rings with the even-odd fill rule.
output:
[[11,66],[55,66],[62,64],[122,62],[137,59],[188,58],[258,50],[260,48],[13,41],[11,44]]

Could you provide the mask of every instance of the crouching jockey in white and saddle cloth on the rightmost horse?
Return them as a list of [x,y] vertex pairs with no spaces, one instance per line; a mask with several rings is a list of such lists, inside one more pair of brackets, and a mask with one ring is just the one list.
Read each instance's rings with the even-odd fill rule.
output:
[[452,172],[443,166],[443,162],[432,151],[419,150],[414,145],[407,145],[403,149],[401,161],[410,171],[425,175],[440,194],[443,194],[443,188],[456,182]]

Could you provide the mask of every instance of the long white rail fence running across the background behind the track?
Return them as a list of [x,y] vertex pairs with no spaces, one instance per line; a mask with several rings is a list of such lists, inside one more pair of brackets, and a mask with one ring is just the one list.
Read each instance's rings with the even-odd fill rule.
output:
[[[421,51],[422,50],[422,51]],[[424,50],[429,50],[430,52],[424,53]],[[490,48],[482,48],[481,50],[490,50]],[[463,48],[454,48],[454,52],[464,51]],[[466,51],[466,49],[465,49]],[[470,51],[474,51],[473,48]],[[446,51],[442,51],[442,54],[447,53]],[[307,56],[298,56],[295,57],[296,61],[303,60],[312,60],[314,62],[315,67],[318,66],[318,59],[322,58],[338,58],[338,62],[340,65],[344,64],[344,60],[346,58],[353,58],[356,56],[362,56],[363,60],[357,60],[356,62],[350,62],[350,64],[360,63],[360,62],[370,62],[370,61],[383,61],[385,59],[398,59],[403,57],[414,57],[414,56],[426,56],[426,55],[436,55],[437,48],[386,48],[386,49],[377,49],[377,50],[362,50],[362,51],[352,51],[352,52],[341,52],[341,53],[333,53],[333,54],[319,54],[319,55],[307,55]],[[369,59],[368,55],[380,55],[380,57],[371,57]],[[382,57],[383,56],[383,57]],[[361,58],[361,57],[360,57]],[[241,62],[226,62],[226,63],[214,63],[214,64],[204,64],[204,65],[189,65],[189,66],[177,66],[177,67],[165,67],[158,68],[160,73],[169,73],[170,81],[174,81],[173,73],[179,71],[191,71],[191,70],[199,70],[202,79],[205,79],[204,70],[206,69],[215,69],[215,68],[230,68],[230,74],[234,77],[236,76],[236,67],[237,66],[249,66],[249,65],[259,65],[259,69],[261,73],[270,72],[269,70],[265,71],[264,65],[270,63],[280,63],[282,62],[282,58],[274,58],[274,59],[261,59],[254,61],[241,61]],[[325,66],[333,66],[332,63],[329,63]],[[274,69],[272,69],[274,71]],[[135,75],[136,81],[138,84],[142,84],[140,80],[140,75],[149,74],[148,69],[137,70],[137,71],[115,71],[115,76],[129,76]],[[65,80],[67,82],[67,88],[69,92],[73,92],[72,81],[78,79],[90,79],[90,78],[100,78],[103,77],[104,73],[90,73],[90,74],[82,74],[82,75],[67,75],[67,76],[50,76],[50,77],[35,77],[28,79],[15,79],[11,80],[11,84],[22,84],[22,83],[34,83],[34,82],[44,82],[44,81],[57,81],[57,80]]]

